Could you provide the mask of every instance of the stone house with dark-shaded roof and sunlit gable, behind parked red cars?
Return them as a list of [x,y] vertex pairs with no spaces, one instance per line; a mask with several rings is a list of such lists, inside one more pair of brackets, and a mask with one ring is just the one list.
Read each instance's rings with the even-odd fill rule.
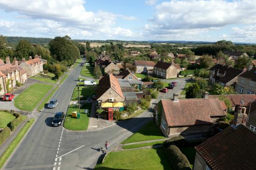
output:
[[177,77],[180,71],[179,64],[175,64],[174,62],[166,63],[159,61],[154,66],[154,74],[165,79]]

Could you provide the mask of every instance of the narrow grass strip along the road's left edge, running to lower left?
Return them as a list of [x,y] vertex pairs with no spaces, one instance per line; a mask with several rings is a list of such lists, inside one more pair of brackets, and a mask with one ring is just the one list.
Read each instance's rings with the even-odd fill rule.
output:
[[30,119],[30,121],[27,122],[26,125],[22,127],[22,129],[20,130],[16,138],[13,140],[13,142],[7,147],[6,151],[0,157],[0,169],[4,166],[7,159],[13,153],[14,149],[20,143],[21,139],[24,137],[24,135],[27,133],[28,129],[30,128],[30,126],[33,125],[33,123],[34,123],[34,119]]

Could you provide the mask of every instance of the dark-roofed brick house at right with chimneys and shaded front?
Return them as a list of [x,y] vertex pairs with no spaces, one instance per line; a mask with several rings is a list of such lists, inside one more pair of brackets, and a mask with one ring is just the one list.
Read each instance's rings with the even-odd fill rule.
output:
[[218,82],[222,86],[236,86],[238,76],[246,69],[236,69],[227,65],[216,64],[210,68],[209,82]]

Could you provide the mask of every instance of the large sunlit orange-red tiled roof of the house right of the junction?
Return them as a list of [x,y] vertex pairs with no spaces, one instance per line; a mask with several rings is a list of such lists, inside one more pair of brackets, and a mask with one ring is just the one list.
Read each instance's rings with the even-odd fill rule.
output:
[[162,100],[168,126],[212,124],[210,116],[226,116],[219,99]]

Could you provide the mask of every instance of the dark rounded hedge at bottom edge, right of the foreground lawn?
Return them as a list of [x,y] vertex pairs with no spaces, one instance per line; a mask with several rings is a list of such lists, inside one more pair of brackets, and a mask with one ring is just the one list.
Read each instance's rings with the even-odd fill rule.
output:
[[170,145],[164,151],[175,170],[191,170],[188,158],[177,146]]

